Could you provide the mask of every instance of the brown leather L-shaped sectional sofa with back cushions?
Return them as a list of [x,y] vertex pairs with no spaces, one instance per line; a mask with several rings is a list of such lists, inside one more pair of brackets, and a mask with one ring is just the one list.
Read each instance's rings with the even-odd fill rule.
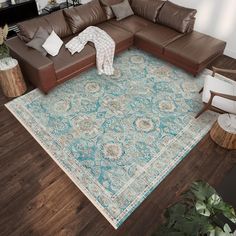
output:
[[[95,48],[87,44],[73,56],[63,46],[57,56],[43,56],[27,47],[39,26],[52,29],[68,42],[89,25],[105,30],[116,43],[116,53],[134,45],[197,75],[220,56],[226,43],[193,31],[194,14],[181,19],[185,8],[159,0],[132,0],[135,15],[116,21],[110,6],[122,0],[93,0],[86,5],[54,12],[18,24],[18,37],[7,41],[26,79],[43,92],[96,64]],[[193,11],[194,12],[194,11]]]

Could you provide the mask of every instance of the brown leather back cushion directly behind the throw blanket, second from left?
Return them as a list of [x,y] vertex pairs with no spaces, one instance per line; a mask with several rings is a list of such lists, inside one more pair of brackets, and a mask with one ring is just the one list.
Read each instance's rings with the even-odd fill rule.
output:
[[78,33],[90,25],[106,21],[105,13],[98,0],[87,4],[64,9],[64,15],[73,34]]

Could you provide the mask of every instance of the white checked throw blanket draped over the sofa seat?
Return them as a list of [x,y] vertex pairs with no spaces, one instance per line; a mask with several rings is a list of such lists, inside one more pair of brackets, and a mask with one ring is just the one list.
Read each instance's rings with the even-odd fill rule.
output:
[[93,42],[96,48],[98,74],[112,75],[114,73],[115,42],[104,30],[96,26],[89,26],[71,39],[65,47],[73,55],[75,52],[80,52],[88,41]]

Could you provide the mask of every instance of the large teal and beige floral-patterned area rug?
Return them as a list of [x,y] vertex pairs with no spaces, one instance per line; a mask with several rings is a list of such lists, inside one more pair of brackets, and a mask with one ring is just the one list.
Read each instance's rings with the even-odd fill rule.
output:
[[115,227],[137,208],[208,132],[215,120],[192,77],[142,51],[115,58],[113,76],[96,69],[6,104],[53,160]]

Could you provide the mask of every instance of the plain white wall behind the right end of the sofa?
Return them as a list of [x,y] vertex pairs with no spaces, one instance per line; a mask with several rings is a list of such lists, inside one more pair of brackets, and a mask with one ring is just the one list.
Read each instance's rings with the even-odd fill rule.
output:
[[171,0],[197,9],[194,29],[227,42],[224,54],[236,58],[236,0]]

